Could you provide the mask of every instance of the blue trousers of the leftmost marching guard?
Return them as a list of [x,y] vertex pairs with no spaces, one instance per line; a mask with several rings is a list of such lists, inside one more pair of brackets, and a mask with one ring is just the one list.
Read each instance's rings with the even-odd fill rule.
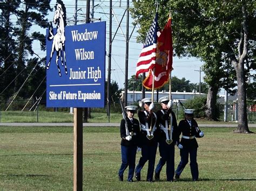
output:
[[121,145],[121,154],[122,154],[122,164],[119,169],[119,175],[123,175],[125,169],[129,166],[129,173],[127,180],[132,180],[134,169],[135,169],[135,160],[136,160],[137,146],[123,146]]

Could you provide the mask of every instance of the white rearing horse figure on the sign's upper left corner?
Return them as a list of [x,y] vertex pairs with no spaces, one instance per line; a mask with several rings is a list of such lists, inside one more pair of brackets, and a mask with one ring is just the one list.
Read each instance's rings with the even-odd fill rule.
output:
[[62,74],[60,73],[60,68],[58,64],[60,54],[61,54],[60,58],[61,58],[62,66],[65,66],[65,73],[68,74],[68,70],[66,68],[65,30],[64,30],[66,26],[66,8],[62,1],[57,0],[56,2],[53,23],[56,24],[57,32],[56,34],[53,34],[52,22],[50,22],[48,40],[52,40],[52,39],[53,40],[52,40],[50,60],[46,68],[49,69],[52,55],[56,51],[57,56],[55,61],[58,67],[59,76],[62,76]]

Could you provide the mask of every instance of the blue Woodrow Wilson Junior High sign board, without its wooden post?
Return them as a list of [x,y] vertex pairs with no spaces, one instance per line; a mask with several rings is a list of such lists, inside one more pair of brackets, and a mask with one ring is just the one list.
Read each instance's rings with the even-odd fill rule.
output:
[[106,23],[58,23],[46,30],[46,107],[103,108]]

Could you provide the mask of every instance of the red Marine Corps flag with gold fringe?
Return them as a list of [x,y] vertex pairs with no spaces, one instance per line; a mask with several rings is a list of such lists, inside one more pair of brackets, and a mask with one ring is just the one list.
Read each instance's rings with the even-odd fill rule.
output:
[[[143,86],[152,89],[154,79],[154,88],[159,89],[169,81],[169,75],[172,68],[172,20],[169,17],[164,30],[161,32],[157,40],[156,65],[153,70],[149,70],[149,74],[143,81]],[[154,75],[154,76],[153,76]]]

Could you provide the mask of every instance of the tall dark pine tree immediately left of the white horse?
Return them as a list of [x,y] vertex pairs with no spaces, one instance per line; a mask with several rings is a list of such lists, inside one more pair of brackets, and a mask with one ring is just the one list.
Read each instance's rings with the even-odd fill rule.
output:
[[[31,26],[35,23],[41,28],[46,28],[48,26],[48,11],[52,10],[50,8],[50,1],[44,0],[26,0],[19,3],[19,7],[16,10],[17,25],[15,32],[17,34],[17,40],[19,44],[17,45],[17,60],[16,60],[16,76],[15,80],[15,91],[17,91],[21,84],[24,82],[25,78],[28,76],[28,70],[21,73],[24,67],[28,66],[29,55],[35,56],[32,43],[34,40],[39,40],[41,42],[41,48],[45,49],[45,38],[40,32],[30,32]],[[21,74],[19,74],[21,73]],[[18,75],[19,74],[19,75]],[[25,88],[22,89],[19,96],[28,97],[28,92]]]

